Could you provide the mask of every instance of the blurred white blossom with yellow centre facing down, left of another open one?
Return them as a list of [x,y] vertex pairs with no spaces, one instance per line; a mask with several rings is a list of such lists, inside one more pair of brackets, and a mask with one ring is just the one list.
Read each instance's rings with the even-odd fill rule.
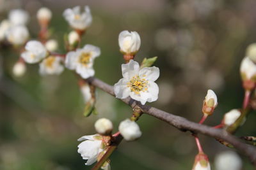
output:
[[47,74],[61,74],[64,71],[64,66],[61,64],[63,59],[61,57],[49,56],[39,64],[39,73],[41,75]]

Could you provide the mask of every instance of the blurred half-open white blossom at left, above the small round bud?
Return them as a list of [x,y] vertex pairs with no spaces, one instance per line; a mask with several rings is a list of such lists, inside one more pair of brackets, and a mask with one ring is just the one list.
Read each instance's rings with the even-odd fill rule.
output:
[[28,41],[25,49],[21,57],[30,64],[39,62],[47,56],[46,48],[39,41]]

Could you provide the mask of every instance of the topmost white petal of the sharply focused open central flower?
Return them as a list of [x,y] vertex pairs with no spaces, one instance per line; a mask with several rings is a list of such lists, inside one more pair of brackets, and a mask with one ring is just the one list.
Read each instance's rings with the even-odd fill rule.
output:
[[130,60],[127,64],[122,64],[122,75],[129,80],[132,76],[138,75],[139,70],[140,64],[134,60]]

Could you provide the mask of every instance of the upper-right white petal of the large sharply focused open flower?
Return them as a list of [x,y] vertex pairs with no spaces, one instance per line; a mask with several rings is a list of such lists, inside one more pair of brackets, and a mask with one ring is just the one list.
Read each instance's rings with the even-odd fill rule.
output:
[[156,81],[159,78],[159,68],[158,67],[143,67],[140,70],[139,76],[145,78],[148,81]]

